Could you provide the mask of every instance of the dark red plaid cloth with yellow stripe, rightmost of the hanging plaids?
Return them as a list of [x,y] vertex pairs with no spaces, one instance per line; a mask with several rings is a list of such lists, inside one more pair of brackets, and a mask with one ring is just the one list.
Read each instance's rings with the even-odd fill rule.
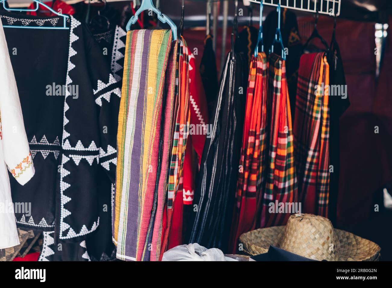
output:
[[298,192],[305,213],[324,217],[329,194],[328,89],[323,89],[327,85],[329,65],[324,53],[301,56],[294,114]]

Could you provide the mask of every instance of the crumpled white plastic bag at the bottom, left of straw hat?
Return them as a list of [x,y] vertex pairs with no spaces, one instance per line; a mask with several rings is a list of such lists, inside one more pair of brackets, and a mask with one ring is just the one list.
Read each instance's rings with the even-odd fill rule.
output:
[[162,261],[238,261],[226,257],[218,248],[207,249],[198,243],[179,245],[163,253]]

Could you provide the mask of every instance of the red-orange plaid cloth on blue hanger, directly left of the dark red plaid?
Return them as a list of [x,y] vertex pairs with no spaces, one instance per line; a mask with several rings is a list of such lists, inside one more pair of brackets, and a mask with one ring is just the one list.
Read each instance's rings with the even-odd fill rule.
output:
[[[279,203],[297,202],[297,176],[294,166],[294,147],[289,93],[287,90],[285,61],[277,54],[268,59],[269,96],[269,150],[267,176],[260,227],[284,225],[291,213],[282,213],[271,207]],[[273,206],[270,206],[273,203]]]

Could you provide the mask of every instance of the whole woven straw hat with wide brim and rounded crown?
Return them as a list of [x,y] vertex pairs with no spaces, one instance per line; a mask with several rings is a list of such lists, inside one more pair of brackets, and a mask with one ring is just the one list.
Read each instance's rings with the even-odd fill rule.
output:
[[381,250],[376,243],[334,229],[327,218],[313,214],[294,214],[286,226],[244,233],[240,243],[250,255],[267,253],[273,245],[319,261],[377,261]]

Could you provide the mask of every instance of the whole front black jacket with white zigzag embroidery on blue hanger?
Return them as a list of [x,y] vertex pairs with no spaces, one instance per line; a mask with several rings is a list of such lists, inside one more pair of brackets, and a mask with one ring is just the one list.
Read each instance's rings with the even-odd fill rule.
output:
[[[63,24],[59,17],[0,16],[3,25]],[[36,167],[30,185],[11,183],[14,201],[31,203],[16,218],[21,227],[54,230],[55,243],[83,241],[99,225],[97,177],[103,169],[115,179],[121,96],[87,26],[73,16],[67,25],[5,30],[10,54],[17,51],[11,62]]]

